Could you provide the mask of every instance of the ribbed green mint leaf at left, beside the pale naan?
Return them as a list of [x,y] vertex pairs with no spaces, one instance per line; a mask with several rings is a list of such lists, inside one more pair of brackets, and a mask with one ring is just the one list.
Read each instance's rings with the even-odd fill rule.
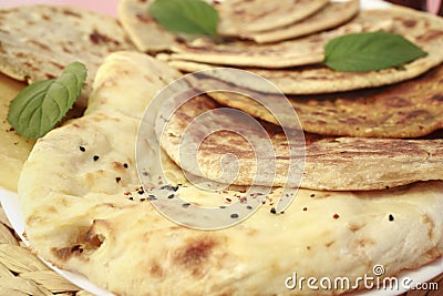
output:
[[28,139],[45,135],[72,108],[83,89],[85,79],[84,64],[73,62],[58,79],[28,85],[9,105],[9,124]]

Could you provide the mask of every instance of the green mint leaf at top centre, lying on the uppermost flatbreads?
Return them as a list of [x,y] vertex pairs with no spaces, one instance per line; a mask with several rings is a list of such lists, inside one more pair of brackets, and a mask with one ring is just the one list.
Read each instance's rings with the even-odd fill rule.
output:
[[218,12],[203,0],[155,0],[150,4],[148,12],[169,31],[217,35]]

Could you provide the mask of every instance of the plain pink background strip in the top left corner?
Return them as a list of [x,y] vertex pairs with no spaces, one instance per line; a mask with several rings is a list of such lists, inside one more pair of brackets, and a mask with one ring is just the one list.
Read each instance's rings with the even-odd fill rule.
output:
[[0,7],[17,7],[35,3],[73,6],[90,10],[96,10],[116,17],[119,0],[1,0]]

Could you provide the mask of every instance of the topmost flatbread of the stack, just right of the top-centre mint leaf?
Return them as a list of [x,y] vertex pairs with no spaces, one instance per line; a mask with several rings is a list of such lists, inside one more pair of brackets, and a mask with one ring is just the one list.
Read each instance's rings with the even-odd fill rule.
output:
[[306,19],[328,4],[329,0],[228,0],[216,2],[218,32],[239,35],[277,29]]

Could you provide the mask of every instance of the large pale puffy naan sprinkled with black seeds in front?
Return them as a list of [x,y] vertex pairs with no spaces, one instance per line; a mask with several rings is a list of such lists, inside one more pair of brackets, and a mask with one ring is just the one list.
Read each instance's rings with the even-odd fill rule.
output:
[[[442,255],[441,182],[361,193],[300,190],[285,213],[275,213],[268,200],[249,220],[219,231],[165,218],[135,190],[142,111],[131,105],[147,104],[158,90],[153,65],[158,69],[158,61],[143,54],[111,54],[91,100],[125,98],[133,115],[99,103],[35,144],[19,194],[38,255],[117,295],[337,295],[343,290],[291,292],[285,280],[293,273],[356,279],[372,276],[375,264],[393,276]],[[204,200],[193,187],[181,186],[182,193]]]

